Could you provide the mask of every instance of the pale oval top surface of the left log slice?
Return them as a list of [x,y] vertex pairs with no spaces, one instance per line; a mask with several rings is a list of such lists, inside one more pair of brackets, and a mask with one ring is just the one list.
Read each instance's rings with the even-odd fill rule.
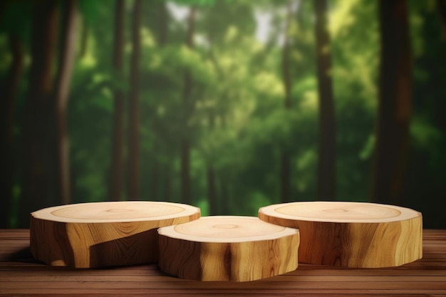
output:
[[36,219],[66,223],[140,222],[199,213],[199,208],[172,202],[89,202],[48,207],[32,212]]

